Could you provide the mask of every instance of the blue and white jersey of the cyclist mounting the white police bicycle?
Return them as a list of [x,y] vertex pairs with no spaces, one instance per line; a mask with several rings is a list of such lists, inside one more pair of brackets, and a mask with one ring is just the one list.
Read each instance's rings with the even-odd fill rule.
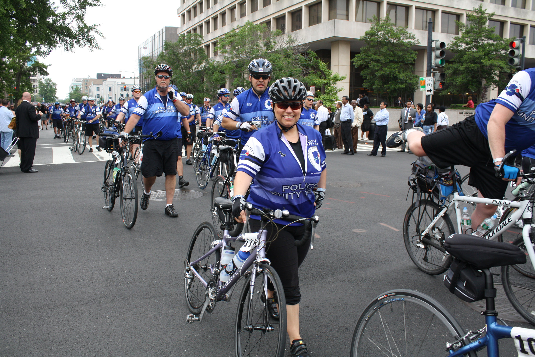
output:
[[535,68],[516,73],[502,93],[476,107],[476,123],[488,138],[487,124],[496,103],[513,111],[505,126],[505,150],[518,153],[535,145]]

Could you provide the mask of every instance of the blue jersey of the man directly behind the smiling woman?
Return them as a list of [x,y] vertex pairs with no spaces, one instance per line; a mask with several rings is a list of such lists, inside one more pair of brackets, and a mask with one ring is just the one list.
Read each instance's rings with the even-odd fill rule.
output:
[[[275,120],[268,90],[265,90],[258,97],[253,88],[249,88],[239,96],[234,97],[231,109],[227,110],[223,116],[236,121],[260,121],[262,124],[259,130],[263,130]],[[251,135],[253,132],[240,131],[241,142],[247,142]]]

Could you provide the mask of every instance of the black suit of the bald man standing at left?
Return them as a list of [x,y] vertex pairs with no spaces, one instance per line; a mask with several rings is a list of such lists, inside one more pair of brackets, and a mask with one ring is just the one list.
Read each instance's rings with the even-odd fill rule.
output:
[[27,172],[32,168],[35,157],[35,146],[39,138],[37,121],[41,115],[37,114],[35,107],[27,101],[22,101],[17,107],[17,135],[20,155],[20,171]]

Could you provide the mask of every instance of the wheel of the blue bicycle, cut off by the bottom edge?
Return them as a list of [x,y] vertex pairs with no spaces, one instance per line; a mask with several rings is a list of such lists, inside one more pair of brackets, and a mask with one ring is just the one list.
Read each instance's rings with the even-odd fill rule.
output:
[[[391,290],[373,299],[358,318],[350,356],[440,356],[447,354],[446,343],[452,343],[465,333],[437,300],[414,290]],[[426,339],[429,340],[426,342]],[[465,345],[464,340],[461,343]],[[476,353],[472,351],[468,355],[475,357]]]

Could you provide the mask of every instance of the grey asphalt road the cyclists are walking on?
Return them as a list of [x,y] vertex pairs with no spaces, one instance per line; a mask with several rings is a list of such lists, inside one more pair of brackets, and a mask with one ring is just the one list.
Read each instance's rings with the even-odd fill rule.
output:
[[[38,144],[58,144],[52,135],[45,131]],[[363,308],[394,288],[431,295],[465,329],[484,326],[404,248],[415,157],[368,151],[327,152],[319,238],[300,268],[301,335],[313,356],[349,355]],[[0,355],[233,356],[238,294],[202,323],[186,323],[183,262],[195,228],[211,221],[210,186],[199,189],[186,166],[188,188],[204,195],[176,201],[179,218],[164,215],[163,201],[150,201],[127,230],[118,207],[102,209],[104,162],[85,155],[86,162],[36,165],[35,174],[0,169]],[[163,183],[158,178],[154,189]],[[502,341],[502,355],[517,355],[511,340]]]

